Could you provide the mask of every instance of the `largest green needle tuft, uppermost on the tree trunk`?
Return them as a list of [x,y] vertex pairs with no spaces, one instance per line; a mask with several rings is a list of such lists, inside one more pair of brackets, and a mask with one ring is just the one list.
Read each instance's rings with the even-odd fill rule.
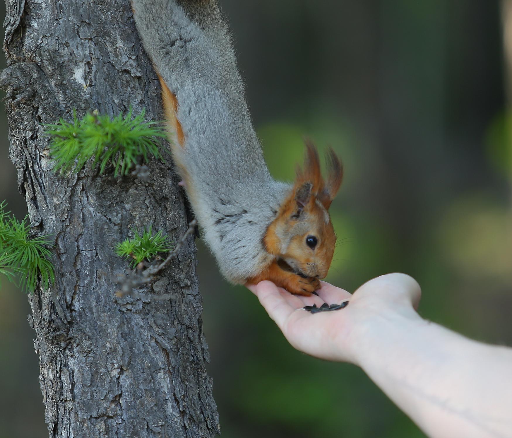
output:
[[139,157],[147,162],[149,156],[162,159],[154,137],[165,137],[163,128],[156,122],[144,121],[145,110],[132,119],[132,109],[125,117],[119,113],[111,119],[97,111],[86,114],[81,120],[73,111],[73,121],[62,118],[58,123],[45,124],[45,134],[51,137],[50,156],[55,163],[54,172],[80,172],[94,157],[93,166],[99,163],[100,174],[112,163],[114,176],[126,175],[138,163]]

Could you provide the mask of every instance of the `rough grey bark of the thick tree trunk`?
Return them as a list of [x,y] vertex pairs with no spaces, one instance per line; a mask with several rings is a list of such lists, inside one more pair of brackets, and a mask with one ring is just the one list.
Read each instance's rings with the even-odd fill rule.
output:
[[[205,370],[196,248],[189,237],[140,297],[116,298],[113,253],[130,227],[153,224],[177,241],[182,195],[168,164],[148,182],[91,168],[51,172],[40,123],[132,106],[159,119],[159,87],[126,0],[6,0],[0,74],[7,91],[10,157],[30,220],[55,244],[56,284],[30,297],[50,436],[203,437],[218,414]],[[170,294],[171,300],[148,297]]]

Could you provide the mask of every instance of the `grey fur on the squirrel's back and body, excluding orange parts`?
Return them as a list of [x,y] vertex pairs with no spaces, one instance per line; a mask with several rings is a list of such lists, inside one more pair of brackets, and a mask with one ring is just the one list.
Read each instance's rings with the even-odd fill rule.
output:
[[186,138],[179,160],[205,240],[223,275],[243,284],[273,259],[263,237],[292,185],[270,176],[217,3],[133,0],[132,7],[144,49],[179,102]]

